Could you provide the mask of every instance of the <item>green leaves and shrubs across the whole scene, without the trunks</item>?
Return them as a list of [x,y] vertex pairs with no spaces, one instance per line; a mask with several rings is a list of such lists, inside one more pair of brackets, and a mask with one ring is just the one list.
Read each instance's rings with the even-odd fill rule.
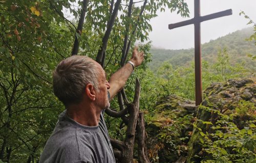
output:
[[[0,1],[0,162],[38,161],[58,114],[65,109],[53,95],[51,75],[57,63],[71,55],[74,35],[81,45],[78,55],[92,58],[97,55],[110,18],[112,1],[90,1],[89,14],[80,34],[76,33],[76,20],[81,8],[74,9],[73,2]],[[132,35],[141,8],[133,6],[134,12],[128,18],[129,1],[123,3],[126,5],[119,9],[121,14],[114,23],[105,51],[104,68],[108,75],[120,68],[120,47],[127,34],[127,24],[132,47],[136,40],[148,39],[148,32],[152,30],[149,20],[157,16],[158,9],[168,6],[172,12],[177,10],[182,16],[188,13],[182,0],[148,1],[145,14],[140,16],[138,32]],[[78,1],[78,6],[81,4],[82,1]],[[74,15],[74,20],[63,18],[62,12],[66,9]],[[205,99],[212,92],[221,90],[211,87],[211,84],[224,82],[228,85],[229,78],[255,77],[253,56],[256,48],[244,40],[255,40],[255,33],[251,35],[251,32],[251,29],[244,29],[203,44],[203,89],[206,92],[210,90]],[[196,120],[196,110],[190,108],[194,105],[191,100],[195,94],[194,50],[151,49],[150,42],[140,45],[140,50],[146,54],[145,62],[129,78],[125,92],[131,101],[134,81],[138,77],[141,84],[140,110],[145,114],[148,135],[151,136],[148,140],[152,139],[154,147],[150,149],[150,158],[153,162],[175,161],[188,155],[187,143],[193,130],[191,124]],[[243,100],[230,105],[236,106],[230,114],[216,111],[220,117],[217,122],[198,121],[212,130],[198,133],[202,137],[199,140],[202,151],[207,153],[203,157],[204,162],[253,162],[255,159],[255,101],[251,102],[255,92],[253,88],[246,89],[238,97]],[[218,93],[230,96],[236,92],[239,90],[229,94],[225,91]],[[222,102],[213,103],[223,105]],[[117,98],[111,107],[118,110]],[[200,108],[212,111],[215,107]],[[244,121],[242,118],[248,115],[250,120]],[[126,128],[120,126],[119,119],[105,117],[111,137],[122,140]],[[202,128],[198,123],[194,126],[194,129]],[[149,146],[152,145],[150,143]],[[134,157],[137,159],[136,153]]]

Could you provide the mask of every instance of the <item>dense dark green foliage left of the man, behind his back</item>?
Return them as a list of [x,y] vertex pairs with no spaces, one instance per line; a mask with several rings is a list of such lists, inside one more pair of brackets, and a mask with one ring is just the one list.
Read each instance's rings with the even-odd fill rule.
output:
[[71,36],[48,1],[0,6],[0,159],[36,161],[63,110],[51,91],[51,72],[68,56],[71,42],[62,39]]

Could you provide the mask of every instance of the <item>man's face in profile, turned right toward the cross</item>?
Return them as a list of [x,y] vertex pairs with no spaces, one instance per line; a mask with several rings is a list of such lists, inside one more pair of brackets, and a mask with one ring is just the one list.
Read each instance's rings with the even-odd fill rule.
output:
[[99,105],[100,108],[108,108],[110,107],[110,102],[108,99],[108,89],[110,89],[110,84],[106,80],[105,71],[98,64],[98,91],[96,91],[96,104]]

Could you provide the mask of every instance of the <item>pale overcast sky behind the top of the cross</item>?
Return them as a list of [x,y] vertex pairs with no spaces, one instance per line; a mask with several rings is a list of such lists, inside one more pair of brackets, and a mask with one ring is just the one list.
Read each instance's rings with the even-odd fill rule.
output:
[[[153,31],[149,34],[155,47],[165,49],[194,48],[194,24],[168,29],[168,24],[184,21],[194,17],[194,1],[185,0],[189,8],[189,18],[182,18],[177,12],[158,13],[158,17],[151,20]],[[254,22],[256,21],[256,0],[201,0],[201,16],[215,12],[232,9],[233,14],[207,20],[201,23],[201,43],[209,42],[250,25],[244,16],[239,16],[240,10],[244,11]]]

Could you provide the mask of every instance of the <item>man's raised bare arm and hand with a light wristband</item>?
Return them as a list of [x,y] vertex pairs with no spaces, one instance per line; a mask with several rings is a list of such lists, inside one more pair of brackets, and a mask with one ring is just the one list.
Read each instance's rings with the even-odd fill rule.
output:
[[[109,79],[110,84],[110,100],[124,87],[127,79],[132,74],[133,69],[141,65],[144,60],[144,52],[138,51],[138,47],[135,47],[133,50],[133,55],[130,61],[132,63],[126,63],[122,68],[115,72]],[[134,65],[133,65],[134,64]]]

